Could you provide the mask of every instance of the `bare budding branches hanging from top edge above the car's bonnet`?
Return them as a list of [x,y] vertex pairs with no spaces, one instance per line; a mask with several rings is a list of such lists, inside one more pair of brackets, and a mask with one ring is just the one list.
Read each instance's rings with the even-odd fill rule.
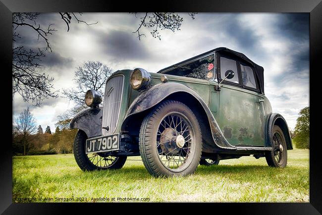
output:
[[[132,12],[135,17],[141,19],[141,23],[138,29],[133,32],[138,34],[139,40],[141,40],[141,36],[145,36],[145,34],[140,33],[140,30],[143,27],[150,28],[152,31],[150,32],[154,38],[158,38],[161,40],[161,35],[159,30],[168,29],[172,32],[179,31],[183,18],[177,13],[162,13],[162,12],[154,12],[154,13],[138,13]],[[140,17],[138,15],[140,14]],[[196,13],[188,13],[192,19],[195,19]]]

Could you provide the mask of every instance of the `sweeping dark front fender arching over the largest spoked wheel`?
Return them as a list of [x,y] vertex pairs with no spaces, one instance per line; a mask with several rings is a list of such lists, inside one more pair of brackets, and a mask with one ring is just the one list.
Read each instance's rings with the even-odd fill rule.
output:
[[228,141],[225,139],[225,137],[223,136],[215,120],[215,117],[213,116],[211,110],[209,109],[207,104],[203,101],[203,99],[191,88],[180,83],[174,83],[174,82],[161,83],[161,84],[152,86],[146,91],[141,92],[139,96],[132,102],[132,104],[128,108],[122,124],[122,130],[126,130],[125,126],[130,120],[131,116],[141,113],[152,107],[155,107],[156,105],[161,103],[161,101],[163,101],[165,98],[171,96],[172,94],[180,93],[180,92],[187,94],[187,96],[191,96],[191,98],[196,100],[196,102],[198,102],[199,105],[202,107],[201,111],[205,112],[208,117],[208,122],[211,128],[213,141],[215,142],[216,146],[221,149],[236,150],[236,147],[230,145]]

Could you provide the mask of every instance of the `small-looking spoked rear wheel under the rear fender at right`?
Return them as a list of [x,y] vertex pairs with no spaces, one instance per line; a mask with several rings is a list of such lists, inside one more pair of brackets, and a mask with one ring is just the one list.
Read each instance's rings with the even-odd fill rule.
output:
[[[273,127],[273,151],[265,153],[265,158],[269,166],[283,168],[287,164],[287,146],[284,133],[278,125]],[[279,145],[282,146],[282,150]]]

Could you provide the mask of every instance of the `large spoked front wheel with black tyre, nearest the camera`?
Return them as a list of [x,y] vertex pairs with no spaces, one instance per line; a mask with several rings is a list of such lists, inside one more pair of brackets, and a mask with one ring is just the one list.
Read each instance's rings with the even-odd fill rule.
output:
[[[165,122],[171,118],[167,127]],[[172,122],[174,128],[171,127]],[[183,131],[184,126],[186,128]],[[142,122],[139,149],[146,169],[154,176],[185,176],[194,173],[202,152],[201,130],[195,114],[181,102],[161,102]],[[170,167],[171,160],[173,168]]]

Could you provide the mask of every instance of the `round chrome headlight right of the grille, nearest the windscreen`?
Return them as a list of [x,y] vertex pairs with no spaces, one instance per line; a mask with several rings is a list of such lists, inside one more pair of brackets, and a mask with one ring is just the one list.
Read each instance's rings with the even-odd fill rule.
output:
[[131,74],[130,82],[133,90],[144,90],[150,85],[151,75],[142,68],[136,68]]

